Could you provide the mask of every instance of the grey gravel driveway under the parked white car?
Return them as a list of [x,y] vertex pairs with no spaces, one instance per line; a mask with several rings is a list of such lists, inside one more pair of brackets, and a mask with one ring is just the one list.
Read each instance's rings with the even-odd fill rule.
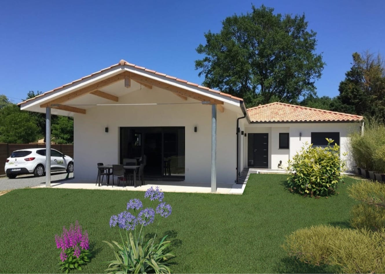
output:
[[[51,173],[51,182],[63,180],[67,177],[67,172]],[[69,178],[73,178],[74,174],[70,173]],[[18,175],[16,179],[8,179],[0,177],[0,190],[19,189],[25,187],[33,187],[35,185],[44,185],[45,176],[33,177],[33,175]]]

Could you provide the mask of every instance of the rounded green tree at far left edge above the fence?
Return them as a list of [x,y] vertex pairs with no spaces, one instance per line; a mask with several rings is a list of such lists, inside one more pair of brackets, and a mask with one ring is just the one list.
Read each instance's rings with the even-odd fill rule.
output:
[[0,110],[0,117],[0,142],[25,144],[36,141],[39,128],[35,117],[28,112],[8,104]]

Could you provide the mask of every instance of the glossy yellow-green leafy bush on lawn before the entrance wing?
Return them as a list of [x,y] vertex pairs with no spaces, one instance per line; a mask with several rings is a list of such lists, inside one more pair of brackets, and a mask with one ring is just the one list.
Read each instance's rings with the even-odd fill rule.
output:
[[328,146],[313,147],[305,143],[300,152],[288,161],[288,184],[292,192],[302,195],[328,196],[335,192],[337,183],[342,180],[341,172],[345,162],[340,159],[340,147],[334,140],[329,140]]

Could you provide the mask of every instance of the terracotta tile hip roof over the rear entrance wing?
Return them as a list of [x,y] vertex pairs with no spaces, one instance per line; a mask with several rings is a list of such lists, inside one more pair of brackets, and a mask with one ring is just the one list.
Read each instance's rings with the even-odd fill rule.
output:
[[352,122],[362,116],[275,102],[247,109],[251,122]]

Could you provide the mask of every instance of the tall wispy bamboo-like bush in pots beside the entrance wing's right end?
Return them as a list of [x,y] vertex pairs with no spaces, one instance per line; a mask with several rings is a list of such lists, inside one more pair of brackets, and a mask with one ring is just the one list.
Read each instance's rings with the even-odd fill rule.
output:
[[364,134],[350,134],[350,151],[358,167],[385,173],[385,126],[367,124]]

